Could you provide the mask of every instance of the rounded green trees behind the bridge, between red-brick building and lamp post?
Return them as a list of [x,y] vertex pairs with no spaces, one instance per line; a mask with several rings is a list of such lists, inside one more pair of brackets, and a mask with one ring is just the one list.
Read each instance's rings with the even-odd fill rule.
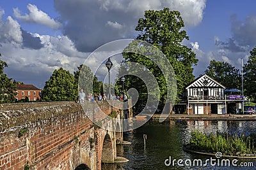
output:
[[[102,81],[98,81],[97,77],[93,76],[90,67],[80,65],[77,69],[74,75],[62,67],[54,70],[49,80],[45,82],[42,92],[43,101],[76,101],[78,87],[84,89],[86,95],[103,92]],[[83,76],[79,81],[79,74],[86,76]],[[89,90],[88,82],[90,81],[93,81],[93,92]]]

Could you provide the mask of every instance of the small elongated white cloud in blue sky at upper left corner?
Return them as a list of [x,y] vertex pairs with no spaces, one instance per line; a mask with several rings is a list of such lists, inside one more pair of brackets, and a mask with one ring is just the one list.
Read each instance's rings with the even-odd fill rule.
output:
[[52,29],[58,29],[60,27],[59,22],[56,22],[54,19],[49,17],[49,15],[44,11],[39,10],[34,4],[28,4],[27,8],[29,10],[29,14],[26,13],[25,15],[21,15],[20,10],[15,8],[13,9],[13,15],[25,22],[46,25]]

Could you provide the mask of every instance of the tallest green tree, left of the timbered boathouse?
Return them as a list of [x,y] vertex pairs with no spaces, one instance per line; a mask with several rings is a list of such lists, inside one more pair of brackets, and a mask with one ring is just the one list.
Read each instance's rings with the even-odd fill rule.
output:
[[[145,11],[144,17],[145,18],[140,18],[138,20],[136,31],[139,31],[140,33],[137,39],[156,46],[164,53],[164,55],[166,55],[173,67],[177,80],[177,101],[179,101],[179,96],[182,95],[184,86],[195,79],[192,66],[198,62],[196,55],[191,48],[182,45],[184,39],[189,39],[186,31],[182,30],[182,27],[184,27],[182,17],[180,16],[179,11],[170,11],[169,8],[164,8],[159,11]],[[134,43],[131,43],[128,48],[131,48],[132,45],[134,45]],[[141,44],[138,44],[138,46],[141,46]],[[143,50],[148,49],[145,48]],[[159,67],[145,56],[125,52],[123,55],[127,62],[137,62],[142,64],[154,74],[161,91],[160,101],[161,103],[164,103],[167,87],[166,80]],[[164,65],[164,63],[162,64]],[[132,80],[130,81],[136,81],[131,84],[138,85],[137,87],[140,87],[142,93],[147,91],[140,78],[131,79]]]

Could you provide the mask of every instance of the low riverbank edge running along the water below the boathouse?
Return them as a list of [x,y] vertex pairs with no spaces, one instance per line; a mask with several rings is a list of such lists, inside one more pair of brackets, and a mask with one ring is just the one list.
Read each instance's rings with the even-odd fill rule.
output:
[[[152,119],[159,120],[161,114],[154,114]],[[209,115],[186,115],[186,114],[173,114],[167,117],[170,120],[256,120],[256,115],[218,115],[212,114]]]

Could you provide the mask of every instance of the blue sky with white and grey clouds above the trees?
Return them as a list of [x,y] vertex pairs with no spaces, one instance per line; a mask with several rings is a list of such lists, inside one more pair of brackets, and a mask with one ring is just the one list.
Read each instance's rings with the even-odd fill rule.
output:
[[[136,38],[145,10],[178,10],[189,36],[183,41],[196,53],[195,77],[211,60],[241,69],[256,46],[254,0],[0,0],[0,53],[4,73],[43,89],[54,69],[73,73],[99,48],[117,39]],[[121,58],[120,58],[121,57]],[[113,57],[118,65],[122,56]],[[105,80],[104,63],[96,76]]]

